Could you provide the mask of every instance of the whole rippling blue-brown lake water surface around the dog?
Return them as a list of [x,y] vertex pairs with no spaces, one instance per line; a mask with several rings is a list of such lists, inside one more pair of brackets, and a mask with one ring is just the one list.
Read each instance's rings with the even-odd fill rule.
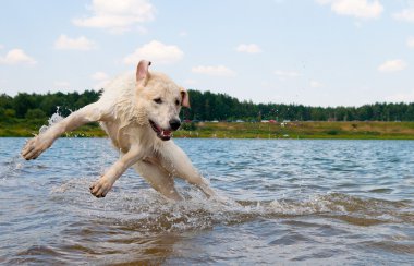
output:
[[175,140],[215,190],[168,203],[108,140],[0,138],[0,264],[414,264],[414,142]]

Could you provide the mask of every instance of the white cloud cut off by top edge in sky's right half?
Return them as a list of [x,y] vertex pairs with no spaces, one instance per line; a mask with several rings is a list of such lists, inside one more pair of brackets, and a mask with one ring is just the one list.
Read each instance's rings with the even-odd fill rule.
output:
[[333,12],[339,15],[351,15],[358,19],[376,19],[383,11],[378,0],[316,0],[319,4],[330,4]]

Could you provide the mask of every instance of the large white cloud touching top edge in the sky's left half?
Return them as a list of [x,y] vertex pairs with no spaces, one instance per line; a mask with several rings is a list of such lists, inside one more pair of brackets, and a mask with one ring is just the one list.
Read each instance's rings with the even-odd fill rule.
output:
[[88,7],[90,16],[75,19],[73,24],[82,27],[124,33],[143,22],[153,21],[156,10],[147,0],[93,0]]

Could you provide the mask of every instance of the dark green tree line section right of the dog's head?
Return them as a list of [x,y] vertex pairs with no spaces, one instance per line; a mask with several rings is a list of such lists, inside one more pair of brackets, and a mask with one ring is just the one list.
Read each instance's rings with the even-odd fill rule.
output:
[[191,120],[291,120],[291,121],[414,121],[414,102],[377,102],[361,107],[310,107],[304,105],[254,104],[226,94],[190,90]]

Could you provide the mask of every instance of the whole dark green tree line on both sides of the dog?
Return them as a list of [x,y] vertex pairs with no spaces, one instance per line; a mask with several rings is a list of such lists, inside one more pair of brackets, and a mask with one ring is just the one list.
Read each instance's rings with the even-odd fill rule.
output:
[[[191,109],[181,117],[198,121],[414,121],[414,102],[377,102],[361,107],[310,107],[285,104],[254,104],[227,94],[188,90]],[[68,116],[99,99],[101,90],[84,93],[19,93],[14,97],[0,95],[0,120],[45,119],[56,113]]]

